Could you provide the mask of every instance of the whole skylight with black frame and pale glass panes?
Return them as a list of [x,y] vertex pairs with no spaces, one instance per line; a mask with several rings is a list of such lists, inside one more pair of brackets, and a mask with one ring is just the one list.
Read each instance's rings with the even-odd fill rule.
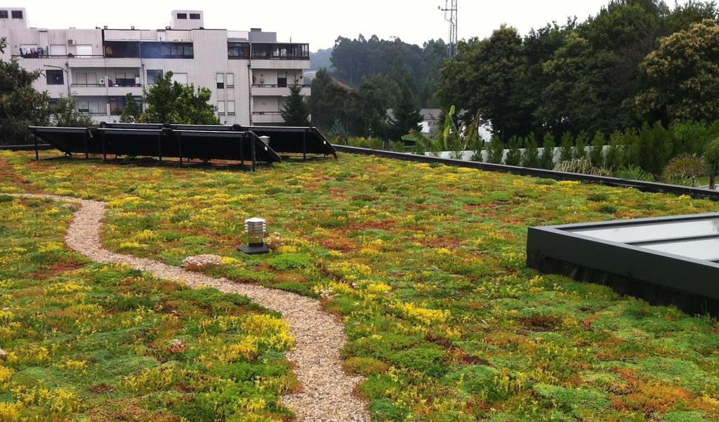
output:
[[719,316],[719,214],[532,227],[528,265]]

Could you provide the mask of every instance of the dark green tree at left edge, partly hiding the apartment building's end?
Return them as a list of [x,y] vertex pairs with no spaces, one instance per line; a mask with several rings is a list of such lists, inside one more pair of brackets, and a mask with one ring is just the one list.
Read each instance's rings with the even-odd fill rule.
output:
[[[0,39],[0,52],[6,45],[6,39]],[[31,140],[27,127],[47,124],[50,96],[32,88],[41,75],[39,70],[28,72],[17,60],[0,60],[1,145],[27,144]]]

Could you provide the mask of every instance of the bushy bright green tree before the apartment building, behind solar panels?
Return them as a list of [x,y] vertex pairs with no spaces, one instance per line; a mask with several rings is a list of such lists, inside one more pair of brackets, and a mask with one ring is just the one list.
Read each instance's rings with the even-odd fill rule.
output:
[[216,107],[209,104],[212,91],[172,80],[173,73],[158,75],[155,85],[145,90],[147,108],[142,123],[219,124]]

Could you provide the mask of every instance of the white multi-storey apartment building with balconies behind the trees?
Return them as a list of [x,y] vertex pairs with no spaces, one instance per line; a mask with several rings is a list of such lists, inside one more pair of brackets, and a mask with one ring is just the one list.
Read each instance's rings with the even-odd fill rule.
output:
[[210,88],[224,124],[281,124],[288,86],[310,95],[308,44],[277,42],[262,29],[205,29],[200,10],[173,11],[165,29],[42,29],[27,26],[25,9],[0,7],[0,37],[8,44],[3,60],[42,72],[38,91],[75,96],[97,122],[118,121],[126,94],[141,101],[143,88],[168,71]]

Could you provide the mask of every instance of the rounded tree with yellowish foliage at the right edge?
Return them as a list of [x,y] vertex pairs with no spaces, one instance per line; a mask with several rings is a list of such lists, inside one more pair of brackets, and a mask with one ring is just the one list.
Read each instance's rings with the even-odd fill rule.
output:
[[633,108],[665,123],[719,119],[718,62],[719,25],[713,20],[664,38],[641,63],[646,88],[633,98]]

